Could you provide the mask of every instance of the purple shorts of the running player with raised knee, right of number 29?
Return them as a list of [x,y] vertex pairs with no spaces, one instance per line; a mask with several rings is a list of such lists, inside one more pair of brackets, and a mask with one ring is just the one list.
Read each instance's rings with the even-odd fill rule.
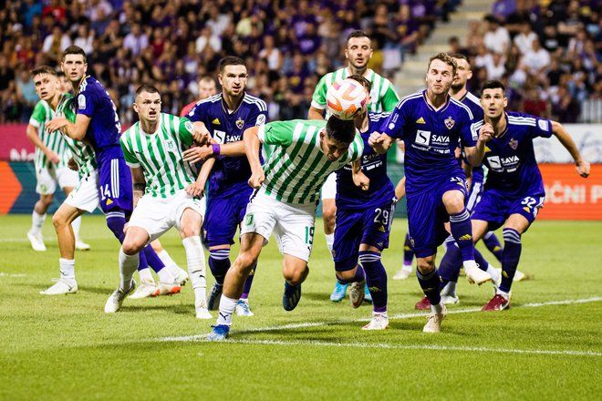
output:
[[445,222],[450,216],[443,205],[442,196],[448,190],[460,190],[466,197],[466,181],[462,176],[433,184],[433,190],[407,195],[408,233],[417,258],[434,255],[437,247],[449,236]]

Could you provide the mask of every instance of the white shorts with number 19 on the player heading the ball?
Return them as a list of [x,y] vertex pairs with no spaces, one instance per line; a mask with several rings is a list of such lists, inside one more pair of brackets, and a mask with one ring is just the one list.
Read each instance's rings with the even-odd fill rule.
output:
[[285,203],[270,198],[262,189],[256,190],[246,207],[241,235],[256,232],[267,243],[274,233],[281,253],[307,262],[314,243],[316,207],[315,203]]

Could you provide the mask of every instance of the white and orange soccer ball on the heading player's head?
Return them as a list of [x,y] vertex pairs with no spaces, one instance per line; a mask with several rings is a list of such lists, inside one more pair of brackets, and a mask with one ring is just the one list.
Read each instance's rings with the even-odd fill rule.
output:
[[354,119],[368,103],[368,91],[355,79],[334,82],[327,91],[328,111],[340,119]]

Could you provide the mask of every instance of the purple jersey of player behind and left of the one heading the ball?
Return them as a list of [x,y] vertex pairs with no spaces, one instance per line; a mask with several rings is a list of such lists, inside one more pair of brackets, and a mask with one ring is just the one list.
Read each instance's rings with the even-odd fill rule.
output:
[[[222,94],[197,102],[188,113],[191,121],[202,121],[218,143],[243,140],[244,129],[265,124],[267,106],[265,101],[244,94],[240,106],[230,113],[223,102]],[[261,159],[261,156],[260,156]],[[263,163],[263,159],[261,160]],[[218,156],[209,180],[210,197],[225,197],[248,187],[251,167],[245,156]]]

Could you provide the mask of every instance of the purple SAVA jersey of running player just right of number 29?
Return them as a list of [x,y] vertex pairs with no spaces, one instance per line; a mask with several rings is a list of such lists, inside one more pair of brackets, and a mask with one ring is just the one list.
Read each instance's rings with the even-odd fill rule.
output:
[[432,190],[433,183],[464,176],[454,157],[458,141],[465,147],[476,144],[478,130],[472,130],[472,111],[448,97],[435,110],[427,103],[426,90],[402,98],[389,116],[383,133],[403,139],[406,144],[406,192]]

